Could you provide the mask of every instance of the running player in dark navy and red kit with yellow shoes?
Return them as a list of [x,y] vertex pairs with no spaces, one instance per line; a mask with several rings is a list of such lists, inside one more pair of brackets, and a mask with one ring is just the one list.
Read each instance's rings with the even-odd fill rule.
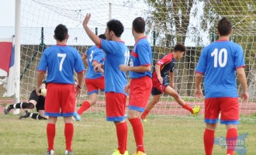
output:
[[[197,115],[200,112],[200,106],[195,106],[191,108],[185,101],[178,95],[178,92],[175,91],[173,88],[175,86],[174,83],[174,67],[175,62],[177,60],[182,59],[183,54],[185,53],[185,46],[182,44],[177,44],[173,52],[169,53],[168,55],[164,56],[161,60],[158,60],[155,64],[155,71],[153,72],[152,82],[153,87],[151,90],[151,94],[153,95],[153,99],[147,104],[147,108],[145,111],[140,115],[140,119],[144,122],[147,122],[147,115],[150,110],[154,107],[154,105],[159,102],[161,95],[166,93],[171,95],[175,98],[175,101],[178,102],[178,105],[181,105],[182,108],[189,110],[193,115]],[[166,81],[166,76],[170,72],[170,83],[168,85]]]

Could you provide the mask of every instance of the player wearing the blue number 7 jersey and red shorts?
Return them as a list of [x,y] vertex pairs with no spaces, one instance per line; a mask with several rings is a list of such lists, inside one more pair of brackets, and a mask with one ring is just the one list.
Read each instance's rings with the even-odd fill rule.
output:
[[[72,116],[74,115],[76,95],[80,95],[85,67],[78,50],[67,46],[67,27],[60,24],[54,30],[57,45],[43,51],[37,68],[36,94],[40,95],[40,83],[47,72],[47,96],[45,115],[49,116],[47,124],[47,154],[54,154],[55,124],[58,116],[64,118],[64,135],[66,139],[65,154],[73,154],[71,143],[74,135]],[[74,88],[74,71],[78,74],[78,85]]]

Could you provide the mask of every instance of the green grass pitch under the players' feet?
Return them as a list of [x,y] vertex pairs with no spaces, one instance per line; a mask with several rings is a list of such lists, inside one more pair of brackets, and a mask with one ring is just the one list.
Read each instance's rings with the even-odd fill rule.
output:
[[[18,115],[0,115],[0,154],[44,154],[47,150],[47,121],[18,119]],[[128,124],[128,151],[136,150],[133,130]],[[144,122],[144,145],[147,155],[199,155],[204,154],[202,134],[205,124],[202,117],[149,116]],[[245,141],[247,154],[256,154],[256,123],[240,122],[238,133],[249,133]],[[218,126],[216,137],[226,136],[225,126]],[[82,122],[74,122],[73,150],[76,155],[109,155],[117,146],[116,127],[104,116],[85,113]],[[64,154],[64,122],[57,121],[55,153]],[[216,155],[226,150],[214,146]]]

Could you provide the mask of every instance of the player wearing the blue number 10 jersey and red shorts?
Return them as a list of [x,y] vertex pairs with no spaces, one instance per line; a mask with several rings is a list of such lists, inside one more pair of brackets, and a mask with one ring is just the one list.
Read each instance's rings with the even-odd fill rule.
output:
[[227,154],[233,155],[237,143],[239,123],[239,102],[237,81],[242,86],[241,98],[247,101],[247,82],[244,72],[244,51],[240,45],[230,40],[232,24],[227,18],[220,19],[217,26],[219,40],[202,50],[199,63],[195,68],[195,97],[202,98],[201,81],[205,88],[205,122],[203,135],[206,155],[213,154],[214,133],[218,117],[227,128]]

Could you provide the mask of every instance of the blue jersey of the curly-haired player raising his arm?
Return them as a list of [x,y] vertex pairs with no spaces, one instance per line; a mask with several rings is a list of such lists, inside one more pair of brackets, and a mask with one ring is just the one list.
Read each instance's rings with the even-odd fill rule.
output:
[[130,52],[123,42],[101,39],[102,50],[106,52],[104,64],[105,92],[123,93],[127,84],[126,72],[119,70],[120,64],[128,64]]

